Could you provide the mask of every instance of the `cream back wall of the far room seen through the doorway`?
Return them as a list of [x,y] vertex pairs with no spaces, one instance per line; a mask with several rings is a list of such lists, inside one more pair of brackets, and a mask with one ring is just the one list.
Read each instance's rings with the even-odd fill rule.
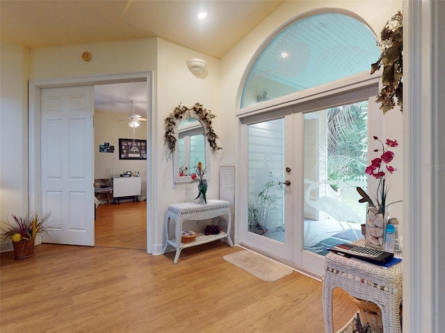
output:
[[[120,121],[120,117],[120,113],[95,111],[95,178],[111,178],[113,169],[118,174],[139,171],[142,196],[147,196],[147,160],[119,160],[119,139],[133,138],[133,129],[128,126],[128,121]],[[145,121],[140,121],[135,138],[147,139]],[[104,142],[114,146],[114,153],[99,152],[99,145]]]

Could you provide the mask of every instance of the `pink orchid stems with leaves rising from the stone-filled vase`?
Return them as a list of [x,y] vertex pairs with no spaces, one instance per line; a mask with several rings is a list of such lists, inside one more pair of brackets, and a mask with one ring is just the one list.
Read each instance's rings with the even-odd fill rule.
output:
[[379,180],[377,196],[375,198],[377,200],[377,203],[374,203],[373,200],[360,187],[357,187],[357,191],[363,197],[359,200],[359,202],[368,202],[369,205],[378,207],[380,212],[385,215],[385,205],[387,205],[386,200],[389,190],[386,184],[387,173],[394,173],[394,171],[397,171],[397,169],[389,165],[389,163],[394,160],[395,156],[395,154],[390,151],[389,148],[396,148],[398,146],[398,142],[397,140],[387,139],[384,144],[378,137],[374,136],[373,138],[380,142],[380,144],[382,145],[382,148],[374,149],[375,153],[378,153],[380,151],[381,155],[380,157],[374,158],[371,161],[371,165],[366,167],[366,170],[364,172],[367,175],[373,176],[373,178]]

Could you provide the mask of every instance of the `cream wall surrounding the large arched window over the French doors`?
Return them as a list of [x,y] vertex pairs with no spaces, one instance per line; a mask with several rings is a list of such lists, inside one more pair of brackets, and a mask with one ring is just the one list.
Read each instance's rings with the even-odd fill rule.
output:
[[[324,8],[324,9],[323,9]],[[271,15],[264,19],[254,30],[249,33],[241,42],[227,53],[221,60],[221,108],[227,117],[223,118],[221,137],[224,138],[224,144],[228,147],[238,146],[238,132],[234,132],[234,128],[238,127],[236,112],[239,108],[239,96],[244,83],[245,71],[250,65],[250,61],[255,57],[262,44],[264,44],[270,36],[286,22],[306,15],[314,10],[328,10],[328,8],[336,8],[336,10],[344,10],[345,12],[353,12],[355,17],[362,18],[364,22],[369,24],[374,33],[380,39],[380,31],[385,26],[388,19],[391,18],[398,10],[402,9],[402,1],[286,1],[275,10]],[[375,105],[375,112],[379,105]],[[386,117],[382,119],[382,128],[385,128],[385,137],[397,139],[401,143],[398,151],[402,151],[403,135],[402,135],[402,118],[401,112],[391,110]],[[397,155],[396,167],[400,172],[391,175],[391,201],[401,200],[403,195],[402,189],[402,154]],[[238,166],[237,156],[235,154],[227,154],[223,156],[222,164],[235,164]],[[237,167],[238,171],[239,168]],[[240,173],[236,173],[240,177]],[[394,185],[393,185],[394,182]],[[238,191],[237,188],[237,196]],[[394,197],[392,195],[394,194]],[[397,205],[391,207],[391,214],[401,219],[402,207]]]

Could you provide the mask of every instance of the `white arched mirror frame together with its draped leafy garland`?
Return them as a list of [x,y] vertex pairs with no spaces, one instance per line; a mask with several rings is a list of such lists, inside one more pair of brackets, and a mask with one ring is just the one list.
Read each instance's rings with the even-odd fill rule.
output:
[[220,150],[216,144],[216,139],[218,139],[218,135],[216,135],[215,131],[211,126],[211,119],[215,118],[216,115],[212,114],[210,110],[207,110],[202,107],[200,103],[195,103],[193,108],[189,109],[184,105],[179,104],[175,110],[169,115],[169,117],[165,118],[165,144],[168,146],[170,154],[173,154],[173,180],[175,183],[181,182],[191,182],[191,176],[179,177],[179,153],[177,151],[177,142],[179,140],[179,123],[181,123],[182,119],[193,118],[199,121],[204,128],[204,137],[207,137],[205,140],[205,170],[204,179],[209,180],[211,175],[211,163],[210,163],[210,151],[213,152]]

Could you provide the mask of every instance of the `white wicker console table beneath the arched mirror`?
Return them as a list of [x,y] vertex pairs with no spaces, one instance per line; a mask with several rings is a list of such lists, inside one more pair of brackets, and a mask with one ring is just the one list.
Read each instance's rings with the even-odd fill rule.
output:
[[[191,243],[182,243],[182,223],[186,220],[205,220],[212,219],[213,223],[218,224],[218,216],[227,214],[228,224],[227,232],[221,231],[219,234],[204,235],[202,232],[197,232],[195,241]],[[175,220],[175,238],[170,239],[169,227],[170,219]],[[227,238],[229,246],[234,246],[232,239],[230,239],[230,228],[232,226],[232,215],[230,214],[230,203],[225,200],[207,200],[207,203],[175,203],[168,205],[167,216],[165,217],[165,245],[162,254],[165,254],[167,246],[170,244],[176,248],[175,259],[173,264],[177,264],[179,255],[183,248],[197,246],[208,243],[209,241],[216,241],[216,239]]]

